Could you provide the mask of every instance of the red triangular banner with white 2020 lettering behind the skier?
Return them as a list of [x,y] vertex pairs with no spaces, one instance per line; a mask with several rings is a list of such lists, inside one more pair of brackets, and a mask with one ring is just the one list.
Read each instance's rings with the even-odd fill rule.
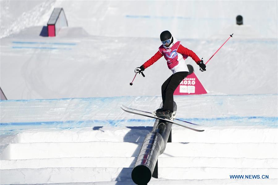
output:
[[182,80],[180,85],[174,91],[174,95],[201,95],[207,94],[207,91],[193,72]]

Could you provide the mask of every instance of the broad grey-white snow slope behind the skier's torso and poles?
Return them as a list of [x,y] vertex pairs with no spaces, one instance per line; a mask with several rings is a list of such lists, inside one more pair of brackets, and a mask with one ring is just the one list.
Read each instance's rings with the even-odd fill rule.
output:
[[[161,58],[145,70],[145,78],[137,76],[129,85],[135,67],[157,52],[157,38],[88,36],[81,28],[42,38],[40,31],[41,27],[28,28],[1,39],[1,88],[7,99],[160,95],[161,84],[171,75]],[[83,34],[73,37],[79,33]],[[208,60],[229,34],[182,43]],[[143,43],[148,45],[138,47]],[[186,61],[214,94],[276,94],[276,59],[276,39],[246,40],[234,35],[207,64],[207,71],[200,72],[190,57]]]

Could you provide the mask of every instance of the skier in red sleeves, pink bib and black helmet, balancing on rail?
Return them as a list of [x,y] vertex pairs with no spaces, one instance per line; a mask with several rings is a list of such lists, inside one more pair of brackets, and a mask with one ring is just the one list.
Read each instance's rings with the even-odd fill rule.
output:
[[168,68],[173,74],[161,86],[163,108],[156,110],[156,116],[170,119],[173,116],[174,91],[189,72],[185,59],[188,56],[191,57],[199,65],[200,71],[205,71],[206,65],[193,51],[183,47],[181,41],[173,37],[169,31],[163,31],[160,34],[160,40],[162,45],[158,48],[158,52],[143,65],[137,67],[135,73],[140,74],[162,56],[165,57]]

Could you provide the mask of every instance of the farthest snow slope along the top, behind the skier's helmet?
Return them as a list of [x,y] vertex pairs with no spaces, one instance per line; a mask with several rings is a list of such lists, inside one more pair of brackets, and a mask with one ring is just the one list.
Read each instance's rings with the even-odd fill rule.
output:
[[[53,7],[65,10],[70,27],[83,27],[96,36],[158,38],[161,30],[171,28],[177,38],[209,39],[242,15],[244,25],[250,26],[245,36],[277,38],[277,1],[6,0],[1,1],[1,38],[26,27],[46,26]],[[230,32],[233,29],[225,36]]]

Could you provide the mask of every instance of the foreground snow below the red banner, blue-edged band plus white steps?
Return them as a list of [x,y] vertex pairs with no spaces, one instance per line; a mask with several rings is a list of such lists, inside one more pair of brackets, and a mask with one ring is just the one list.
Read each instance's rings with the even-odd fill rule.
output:
[[[160,101],[159,96],[1,101],[1,183],[133,184],[130,174],[154,119],[119,106],[151,111]],[[277,95],[192,95],[175,101],[177,117],[203,124],[195,128],[205,131],[173,125],[172,143],[158,159],[159,178],[149,184],[277,183]],[[229,179],[237,174],[269,179]]]

